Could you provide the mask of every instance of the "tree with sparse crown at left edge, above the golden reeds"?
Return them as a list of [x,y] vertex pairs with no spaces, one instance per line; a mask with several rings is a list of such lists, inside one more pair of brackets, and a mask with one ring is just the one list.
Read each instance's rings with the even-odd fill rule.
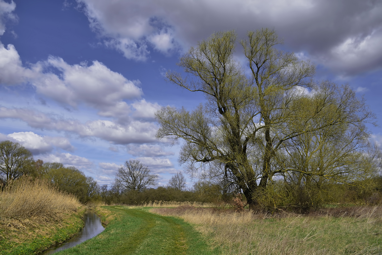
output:
[[32,169],[32,152],[18,142],[0,142],[0,178],[15,180]]

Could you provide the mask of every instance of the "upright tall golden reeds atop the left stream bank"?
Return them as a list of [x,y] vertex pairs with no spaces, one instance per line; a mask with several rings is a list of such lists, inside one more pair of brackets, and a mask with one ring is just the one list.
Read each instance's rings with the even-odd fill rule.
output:
[[50,217],[76,211],[80,206],[77,198],[58,191],[46,180],[22,178],[0,191],[0,218]]

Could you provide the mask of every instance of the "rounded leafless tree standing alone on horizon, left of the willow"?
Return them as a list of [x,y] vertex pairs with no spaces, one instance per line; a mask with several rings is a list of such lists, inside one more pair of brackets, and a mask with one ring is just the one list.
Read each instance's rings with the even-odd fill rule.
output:
[[150,174],[150,169],[139,160],[129,160],[118,169],[115,183],[123,190],[144,190],[149,186],[158,185],[157,176]]

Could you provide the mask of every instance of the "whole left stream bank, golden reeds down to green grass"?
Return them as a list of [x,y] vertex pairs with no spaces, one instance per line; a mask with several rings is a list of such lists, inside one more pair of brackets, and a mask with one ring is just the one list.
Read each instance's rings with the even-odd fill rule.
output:
[[0,192],[0,254],[36,254],[83,227],[85,208],[43,181],[19,180]]

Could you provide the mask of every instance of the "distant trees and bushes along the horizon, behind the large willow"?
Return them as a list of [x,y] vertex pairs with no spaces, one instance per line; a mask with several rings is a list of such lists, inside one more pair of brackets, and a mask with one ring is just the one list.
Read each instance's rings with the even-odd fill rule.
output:
[[[61,191],[75,195],[83,204],[91,201],[105,204],[134,205],[149,201],[199,201],[229,204],[242,193],[240,186],[223,178],[200,175],[191,188],[186,188],[186,178],[177,172],[170,178],[167,186],[159,186],[157,175],[138,160],[129,160],[119,169],[115,180],[110,185],[99,185],[92,177],[87,177],[75,167],[65,167],[58,162],[34,160],[31,152],[22,145],[0,142],[0,186],[23,176],[49,180]],[[365,153],[366,154],[366,153]],[[381,152],[377,145],[367,152],[365,162],[380,170]],[[382,176],[364,176],[349,183],[333,181],[309,182],[301,176],[291,175],[290,180],[274,180],[259,196],[259,209],[274,211],[291,209],[308,211],[325,204],[377,204],[382,200]],[[245,197],[244,203],[248,203]]]

